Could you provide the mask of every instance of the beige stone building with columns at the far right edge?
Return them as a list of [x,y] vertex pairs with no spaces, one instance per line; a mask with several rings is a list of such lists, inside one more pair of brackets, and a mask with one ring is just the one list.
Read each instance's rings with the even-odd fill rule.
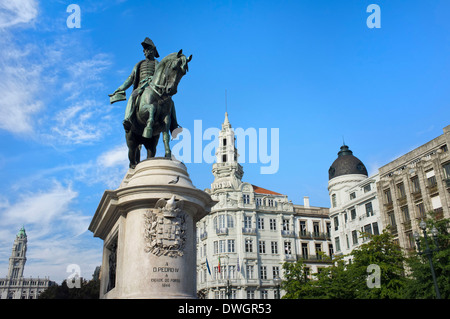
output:
[[450,125],[443,131],[379,169],[383,221],[402,248],[415,248],[413,234],[430,217],[428,212],[437,219],[450,218]]

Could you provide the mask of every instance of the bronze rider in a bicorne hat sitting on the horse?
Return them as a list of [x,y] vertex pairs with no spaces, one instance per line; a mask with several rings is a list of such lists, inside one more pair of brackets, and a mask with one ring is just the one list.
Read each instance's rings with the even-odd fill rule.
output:
[[149,38],[141,43],[144,48],[145,60],[138,62],[131,72],[130,76],[125,80],[125,82],[114,91],[113,94],[118,92],[123,92],[127,90],[131,85],[133,85],[133,92],[127,102],[127,107],[125,109],[125,119],[123,121],[123,127],[125,132],[131,129],[131,117],[133,116],[138,99],[144,91],[145,87],[151,81],[158,61],[155,58],[159,58],[156,46],[153,41]]

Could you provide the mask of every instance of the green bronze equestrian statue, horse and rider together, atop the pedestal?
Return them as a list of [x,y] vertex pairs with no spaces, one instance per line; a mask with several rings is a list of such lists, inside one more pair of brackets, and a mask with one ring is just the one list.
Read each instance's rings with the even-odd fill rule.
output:
[[180,50],[158,62],[155,60],[159,57],[158,51],[149,38],[142,46],[146,59],[136,64],[127,80],[110,95],[111,104],[123,101],[125,90],[133,85],[123,121],[130,168],[140,161],[141,145],[147,150],[147,158],[155,156],[161,133],[165,157],[172,157],[169,134],[173,135],[173,131],[180,128],[172,96],[177,93],[178,83],[192,59],[192,55],[186,58]]

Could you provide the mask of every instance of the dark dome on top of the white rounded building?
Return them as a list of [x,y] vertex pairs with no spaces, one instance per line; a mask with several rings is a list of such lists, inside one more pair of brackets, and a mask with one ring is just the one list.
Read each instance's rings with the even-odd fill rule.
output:
[[332,179],[341,175],[350,174],[367,174],[364,164],[350,151],[347,145],[342,145],[338,153],[338,158],[333,162],[328,170],[328,179]]

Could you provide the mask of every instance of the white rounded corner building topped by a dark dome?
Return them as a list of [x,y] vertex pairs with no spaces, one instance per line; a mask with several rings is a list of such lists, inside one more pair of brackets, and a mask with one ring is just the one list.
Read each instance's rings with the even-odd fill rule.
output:
[[369,177],[364,164],[347,145],[341,147],[328,174],[334,253],[345,256],[369,241],[371,235],[383,231],[377,193],[379,175]]

